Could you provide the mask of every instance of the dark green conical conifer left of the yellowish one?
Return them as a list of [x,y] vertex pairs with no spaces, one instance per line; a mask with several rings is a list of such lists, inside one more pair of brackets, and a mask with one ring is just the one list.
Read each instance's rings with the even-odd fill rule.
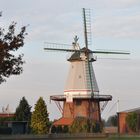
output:
[[30,120],[31,120],[31,106],[28,104],[25,97],[22,97],[18,107],[16,108],[15,120],[16,121],[28,121],[30,123]]

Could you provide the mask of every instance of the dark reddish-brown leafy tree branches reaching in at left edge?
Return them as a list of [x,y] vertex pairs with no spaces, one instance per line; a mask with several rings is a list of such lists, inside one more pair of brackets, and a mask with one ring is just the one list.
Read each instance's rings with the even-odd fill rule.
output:
[[14,52],[24,45],[26,27],[23,26],[18,34],[15,33],[15,28],[15,22],[11,23],[7,33],[0,28],[0,84],[11,75],[19,75],[23,71],[23,54],[14,55]]

